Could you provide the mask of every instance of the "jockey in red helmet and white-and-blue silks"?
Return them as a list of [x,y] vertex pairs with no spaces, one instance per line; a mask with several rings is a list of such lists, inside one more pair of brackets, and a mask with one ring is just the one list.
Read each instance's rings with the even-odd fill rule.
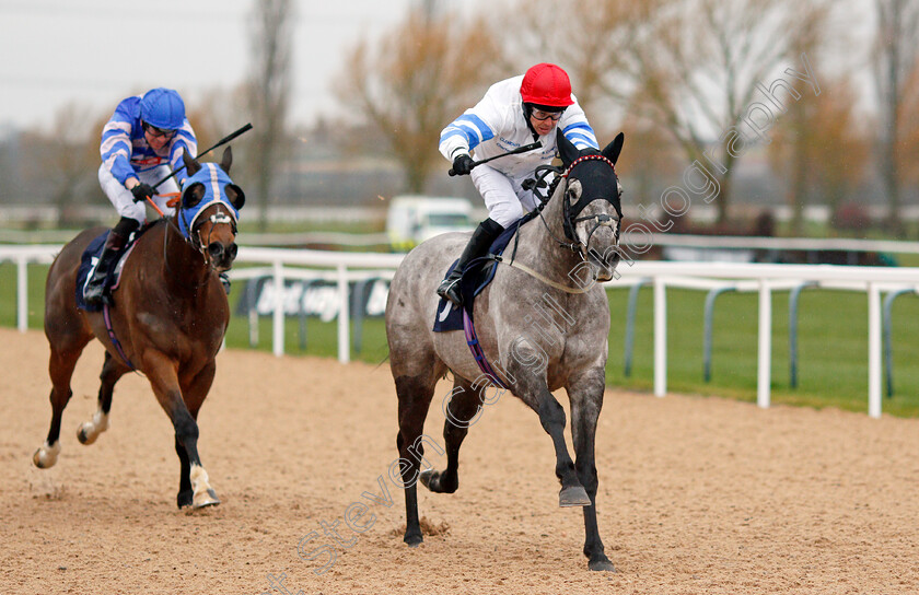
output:
[[[475,107],[453,120],[440,136],[440,152],[453,163],[456,174],[469,174],[485,199],[488,219],[479,224],[460,261],[438,288],[438,294],[460,304],[460,278],[472,260],[485,256],[496,237],[511,223],[536,207],[532,190],[523,180],[538,165],[556,155],[556,130],[578,149],[597,149],[596,137],[578,100],[571,94],[568,73],[556,65],[539,63],[522,77],[491,85]],[[507,154],[538,141],[542,148],[509,154],[487,164],[485,160]]]

